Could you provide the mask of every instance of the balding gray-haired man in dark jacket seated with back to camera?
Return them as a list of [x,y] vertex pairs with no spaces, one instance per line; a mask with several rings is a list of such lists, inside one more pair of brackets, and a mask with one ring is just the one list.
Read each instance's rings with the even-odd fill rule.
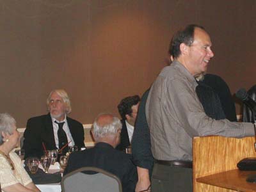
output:
[[131,154],[115,150],[120,143],[121,129],[122,124],[117,117],[111,114],[99,115],[92,127],[95,147],[70,154],[64,175],[84,166],[93,166],[119,177],[123,192],[134,191],[137,173]]

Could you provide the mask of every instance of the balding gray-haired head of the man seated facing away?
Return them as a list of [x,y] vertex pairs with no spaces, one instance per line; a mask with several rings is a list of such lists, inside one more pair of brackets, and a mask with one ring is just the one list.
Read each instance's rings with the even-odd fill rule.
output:
[[116,147],[120,142],[120,120],[109,113],[100,114],[93,123],[92,134],[96,142],[106,142]]

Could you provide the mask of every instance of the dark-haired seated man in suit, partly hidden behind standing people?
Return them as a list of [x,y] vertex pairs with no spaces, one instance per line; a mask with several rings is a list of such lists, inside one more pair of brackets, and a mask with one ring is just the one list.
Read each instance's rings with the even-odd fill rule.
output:
[[131,97],[125,97],[117,106],[119,114],[122,117],[121,142],[120,145],[116,147],[119,150],[124,150],[131,145],[139,104],[140,97],[138,95],[134,95]]

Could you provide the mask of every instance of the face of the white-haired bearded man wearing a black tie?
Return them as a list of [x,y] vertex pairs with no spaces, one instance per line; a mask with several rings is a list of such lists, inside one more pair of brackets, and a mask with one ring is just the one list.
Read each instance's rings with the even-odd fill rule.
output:
[[65,102],[63,102],[60,95],[58,95],[56,92],[53,92],[49,102],[49,110],[51,116],[57,120],[63,120],[65,118],[66,108],[67,105]]

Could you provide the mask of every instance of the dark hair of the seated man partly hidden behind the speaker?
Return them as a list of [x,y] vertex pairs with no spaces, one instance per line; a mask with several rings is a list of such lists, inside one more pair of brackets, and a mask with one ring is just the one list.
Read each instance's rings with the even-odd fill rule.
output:
[[121,102],[118,104],[117,108],[119,111],[120,116],[122,119],[126,119],[125,115],[132,114],[132,106],[135,106],[140,102],[140,97],[138,95],[134,95],[131,97],[125,97],[121,100]]

